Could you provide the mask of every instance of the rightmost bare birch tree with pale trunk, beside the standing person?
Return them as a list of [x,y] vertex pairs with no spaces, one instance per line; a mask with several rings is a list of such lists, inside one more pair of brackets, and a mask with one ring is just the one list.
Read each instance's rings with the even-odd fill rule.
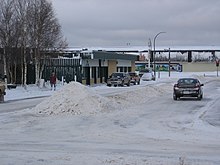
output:
[[39,85],[44,68],[40,60],[45,59],[45,53],[42,52],[57,46],[62,40],[61,27],[55,18],[52,3],[46,0],[35,0],[29,15],[35,59],[35,83]]

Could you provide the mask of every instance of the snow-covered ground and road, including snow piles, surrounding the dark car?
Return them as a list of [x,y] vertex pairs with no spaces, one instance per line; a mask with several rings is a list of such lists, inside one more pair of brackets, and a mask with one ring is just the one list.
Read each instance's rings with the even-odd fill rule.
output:
[[[179,77],[199,78],[205,84],[204,99],[174,101],[172,87]],[[46,97],[37,100],[42,96]],[[26,99],[30,97],[35,99]],[[219,99],[220,78],[214,72],[171,73],[171,77],[161,73],[156,81],[131,87],[75,82],[58,84],[56,91],[49,86],[17,87],[7,90],[0,105],[0,161],[3,165],[217,165]],[[19,104],[29,108],[21,110]]]

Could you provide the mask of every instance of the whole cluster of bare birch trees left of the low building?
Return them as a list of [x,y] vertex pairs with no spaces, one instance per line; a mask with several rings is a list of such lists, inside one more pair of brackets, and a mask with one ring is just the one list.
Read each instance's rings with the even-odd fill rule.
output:
[[[45,52],[66,47],[52,3],[47,0],[0,0],[0,49],[8,81],[27,84],[27,66],[35,66],[39,85]],[[19,69],[18,69],[19,68]]]

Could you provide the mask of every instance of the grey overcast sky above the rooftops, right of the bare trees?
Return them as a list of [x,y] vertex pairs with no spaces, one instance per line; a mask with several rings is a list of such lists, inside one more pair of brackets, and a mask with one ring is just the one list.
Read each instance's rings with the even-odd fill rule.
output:
[[69,46],[220,46],[220,0],[51,0]]

